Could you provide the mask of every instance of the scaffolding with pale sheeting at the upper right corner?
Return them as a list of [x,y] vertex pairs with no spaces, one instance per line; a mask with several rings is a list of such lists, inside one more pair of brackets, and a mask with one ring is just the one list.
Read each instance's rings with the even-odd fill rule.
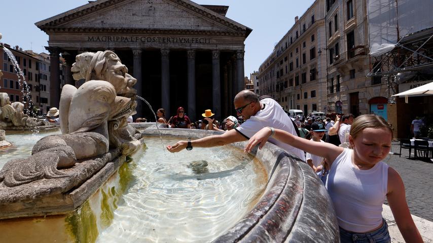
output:
[[431,0],[369,0],[370,73],[386,77],[388,102],[399,84],[433,79]]

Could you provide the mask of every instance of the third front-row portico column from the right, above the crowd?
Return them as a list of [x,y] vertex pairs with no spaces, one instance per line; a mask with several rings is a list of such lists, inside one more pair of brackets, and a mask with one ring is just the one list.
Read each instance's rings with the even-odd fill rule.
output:
[[196,84],[195,84],[195,50],[187,51],[188,65],[188,116],[196,120]]

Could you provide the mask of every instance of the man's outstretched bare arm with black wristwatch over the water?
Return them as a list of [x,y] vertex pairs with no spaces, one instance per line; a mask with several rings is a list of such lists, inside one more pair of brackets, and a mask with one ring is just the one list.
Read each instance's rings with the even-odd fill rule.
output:
[[[247,139],[242,136],[240,133],[236,132],[236,130],[232,129],[230,131],[225,132],[221,135],[212,135],[209,137],[200,138],[197,140],[191,141],[191,146],[200,147],[200,148],[208,148],[214,146],[223,146],[225,144],[246,141]],[[179,152],[182,149],[186,148],[188,145],[188,141],[181,140],[178,141],[173,146],[167,145],[167,150],[174,153]]]

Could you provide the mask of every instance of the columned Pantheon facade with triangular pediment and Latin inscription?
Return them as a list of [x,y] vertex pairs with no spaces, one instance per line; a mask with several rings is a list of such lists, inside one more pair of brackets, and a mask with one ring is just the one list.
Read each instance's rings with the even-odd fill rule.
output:
[[[49,35],[51,106],[60,99],[59,56],[112,50],[137,79],[134,88],[166,118],[183,106],[192,120],[212,109],[217,119],[234,114],[243,89],[244,41],[251,29],[225,17],[228,6],[188,0],[98,0],[35,23]],[[56,65],[57,64],[57,65]],[[152,120],[141,101],[137,117]]]

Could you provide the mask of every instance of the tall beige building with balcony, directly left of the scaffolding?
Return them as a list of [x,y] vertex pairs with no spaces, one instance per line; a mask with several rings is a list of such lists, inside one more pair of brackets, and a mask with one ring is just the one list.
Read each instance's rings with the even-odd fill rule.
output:
[[378,113],[386,119],[387,87],[370,71],[367,0],[326,0],[328,112]]

